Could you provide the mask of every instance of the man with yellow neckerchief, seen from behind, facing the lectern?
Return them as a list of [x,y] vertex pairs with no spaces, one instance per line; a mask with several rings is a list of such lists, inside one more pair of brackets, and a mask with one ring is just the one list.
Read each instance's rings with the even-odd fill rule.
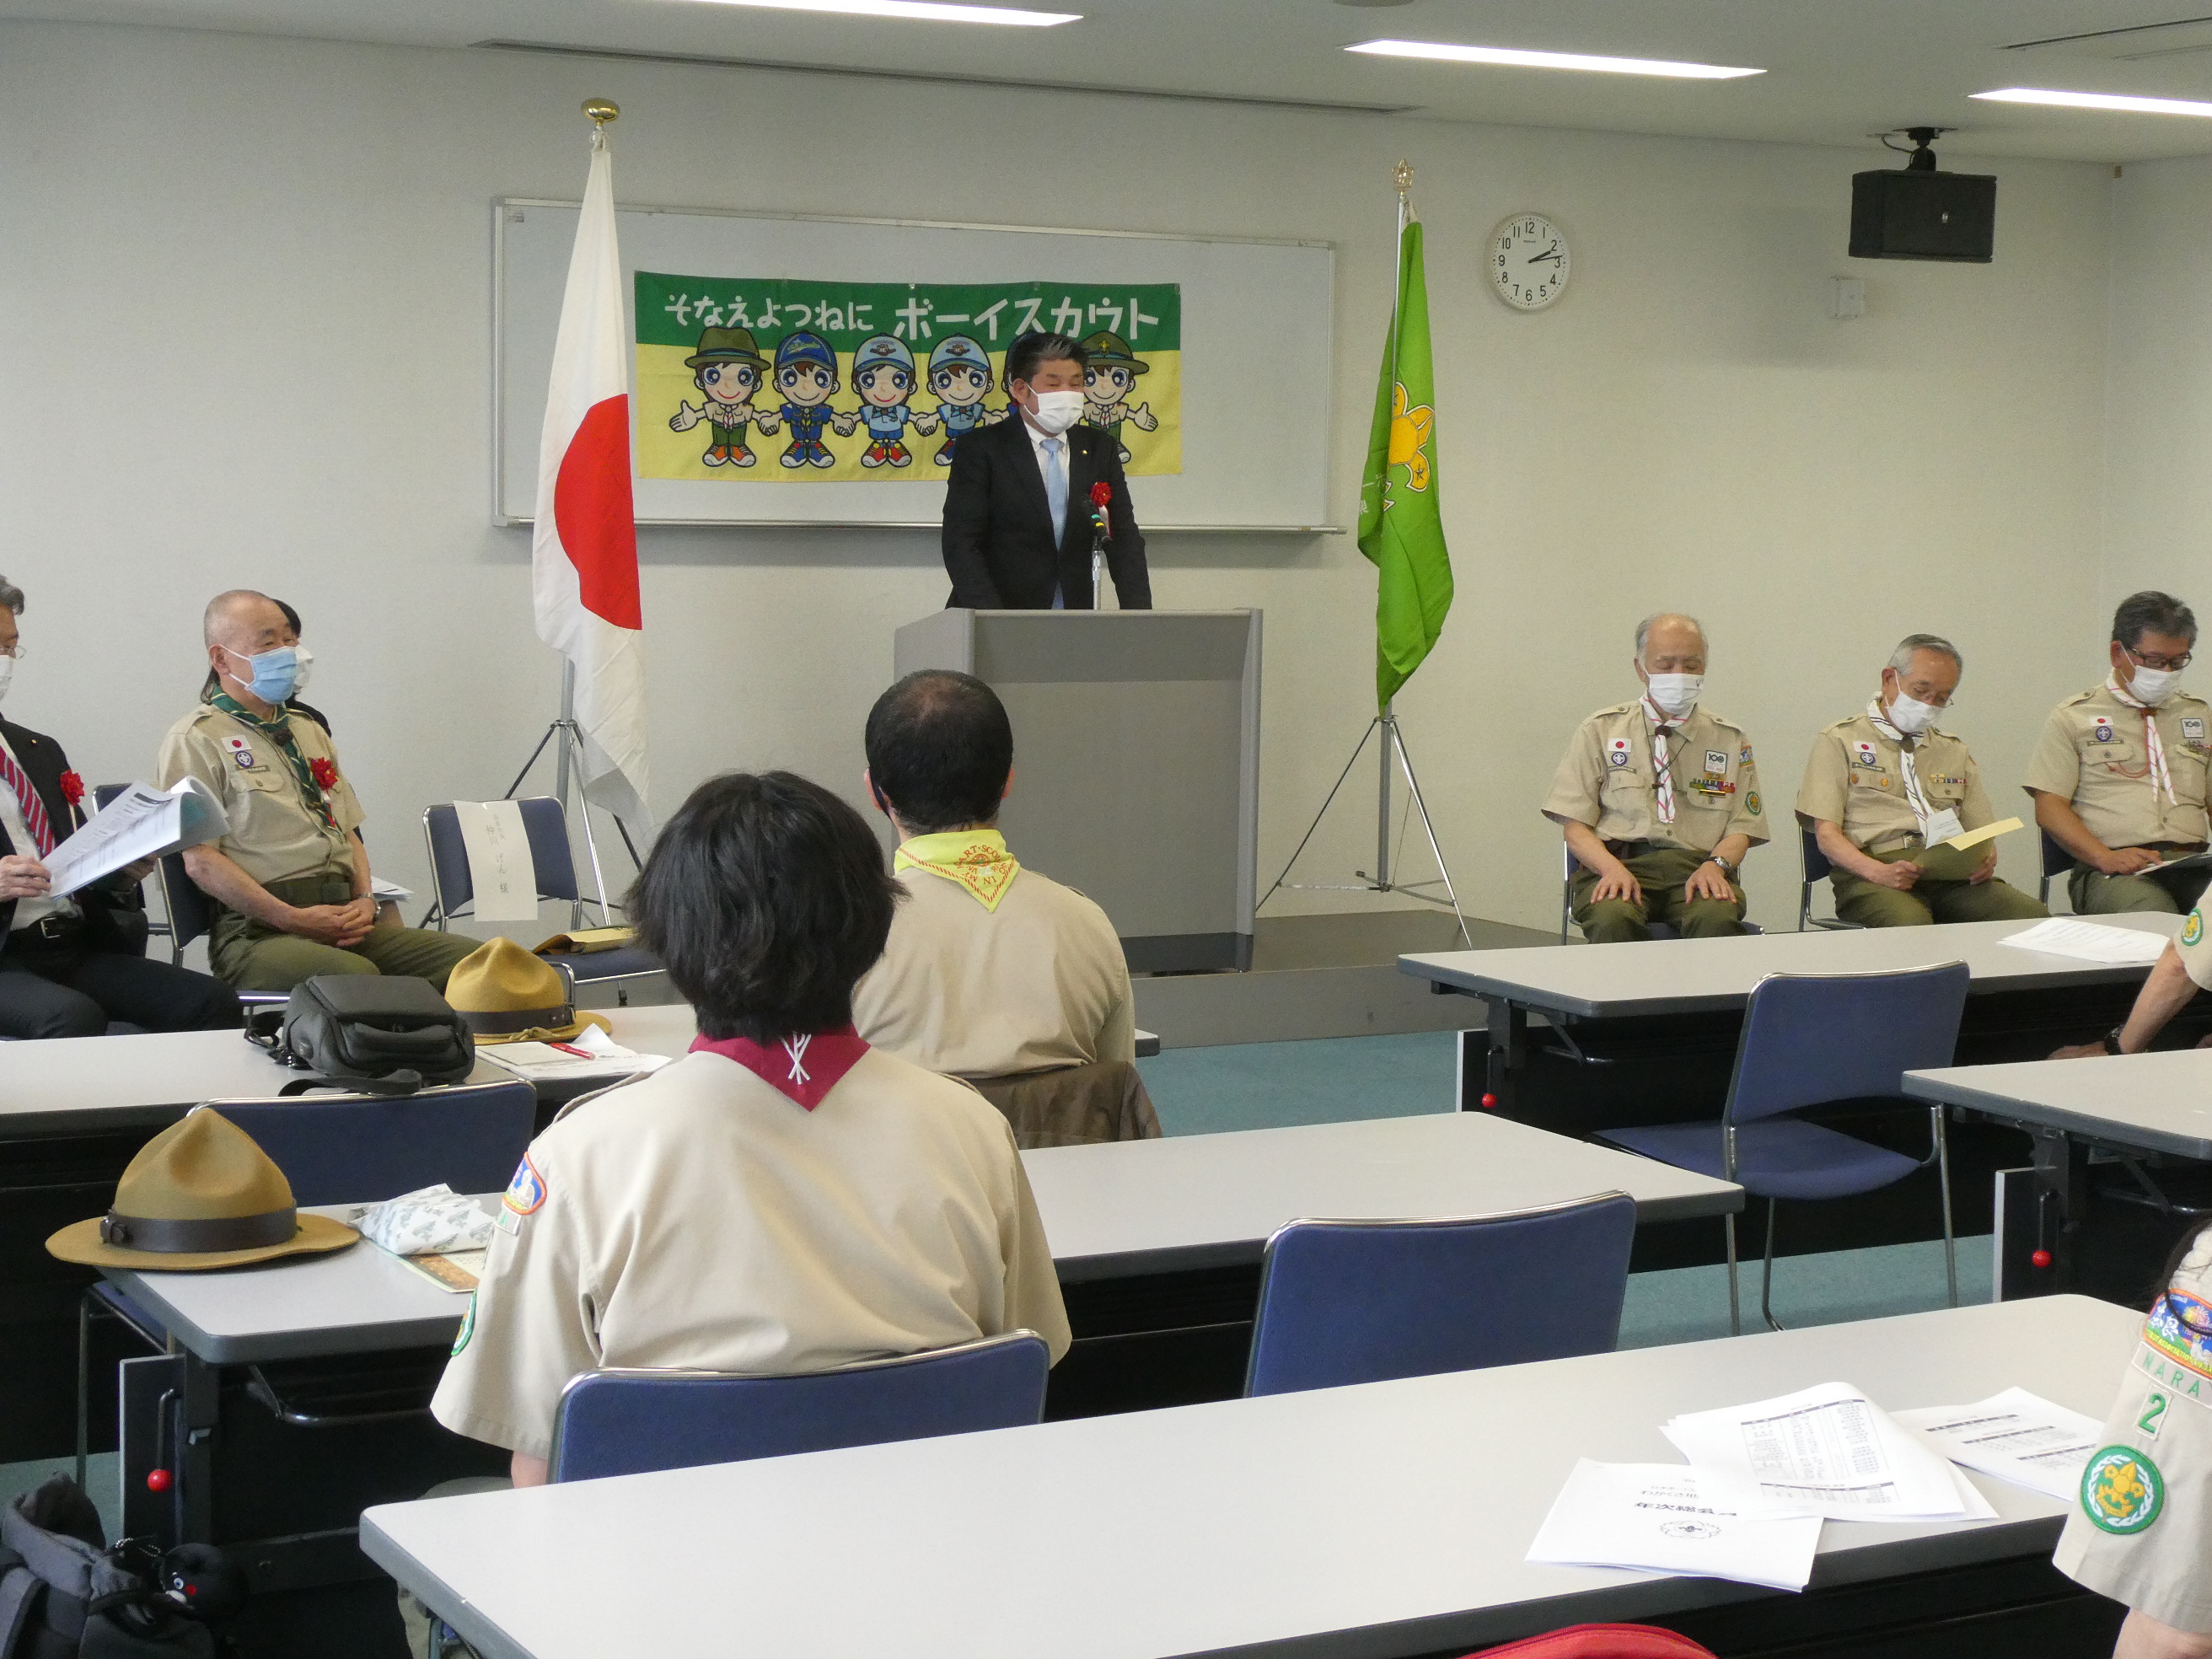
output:
[[951,1077],[1137,1057],[1128,962],[1106,911],[1006,849],[1013,726],[971,675],[922,670],[867,714],[867,790],[898,832],[905,889],[854,989],[878,1048]]

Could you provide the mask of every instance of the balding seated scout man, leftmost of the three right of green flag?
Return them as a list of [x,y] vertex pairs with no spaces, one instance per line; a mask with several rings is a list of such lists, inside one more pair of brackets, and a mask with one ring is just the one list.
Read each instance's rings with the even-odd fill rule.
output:
[[1544,796],[1582,865],[1575,922],[1593,945],[1650,938],[1650,922],[1683,938],[1741,933],[1736,869],[1767,838],[1752,739],[1699,706],[1705,630],[1694,617],[1646,617],[1635,670],[1644,697],[1590,714]]

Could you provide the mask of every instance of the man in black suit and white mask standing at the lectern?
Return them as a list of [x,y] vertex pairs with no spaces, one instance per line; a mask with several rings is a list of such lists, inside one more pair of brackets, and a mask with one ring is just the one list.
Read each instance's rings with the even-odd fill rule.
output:
[[1144,533],[1115,440],[1082,425],[1086,352],[1066,334],[1006,349],[1013,407],[953,449],[945,480],[947,604],[978,611],[1091,608],[1091,489],[1106,484],[1106,568],[1124,611],[1152,608]]

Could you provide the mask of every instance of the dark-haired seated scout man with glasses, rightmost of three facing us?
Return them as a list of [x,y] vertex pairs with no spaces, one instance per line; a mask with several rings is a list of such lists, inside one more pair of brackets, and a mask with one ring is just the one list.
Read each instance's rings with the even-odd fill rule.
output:
[[2197,617],[2170,593],[2130,593],[2112,613],[2104,686],[2068,697],[2044,726],[2028,779],[2035,823],[2075,856],[2075,914],[2179,916],[2205,869],[2161,874],[2205,847],[2205,703],[2179,690]]

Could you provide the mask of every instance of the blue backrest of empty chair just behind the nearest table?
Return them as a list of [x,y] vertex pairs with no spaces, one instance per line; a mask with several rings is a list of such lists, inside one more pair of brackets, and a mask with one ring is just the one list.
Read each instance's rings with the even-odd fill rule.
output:
[[1449,1221],[1292,1221],[1267,1241],[1245,1394],[1608,1354],[1626,1192]]

